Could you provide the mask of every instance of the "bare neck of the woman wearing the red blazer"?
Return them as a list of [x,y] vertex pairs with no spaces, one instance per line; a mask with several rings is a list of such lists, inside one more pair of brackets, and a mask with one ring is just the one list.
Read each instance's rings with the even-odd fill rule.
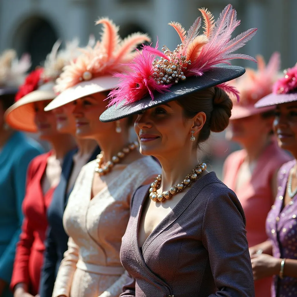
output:
[[63,159],[76,146],[75,139],[70,134],[57,134],[49,142],[56,159]]

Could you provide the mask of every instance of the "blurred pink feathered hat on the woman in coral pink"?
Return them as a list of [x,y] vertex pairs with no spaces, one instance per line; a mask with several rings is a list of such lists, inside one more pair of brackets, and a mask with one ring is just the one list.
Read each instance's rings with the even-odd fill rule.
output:
[[245,118],[275,108],[275,106],[266,106],[259,109],[255,108],[255,103],[271,93],[280,66],[279,53],[274,53],[271,56],[267,66],[262,56],[257,56],[257,62],[257,71],[248,68],[243,76],[230,83],[240,93],[239,102],[235,97],[231,97],[233,108],[230,120]]

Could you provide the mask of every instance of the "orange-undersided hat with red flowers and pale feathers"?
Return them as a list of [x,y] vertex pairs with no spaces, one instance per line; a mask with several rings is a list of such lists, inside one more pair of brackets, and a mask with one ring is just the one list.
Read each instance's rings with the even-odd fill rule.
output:
[[76,51],[78,40],[66,44],[65,49],[59,50],[57,41],[52,51],[47,55],[44,67],[37,67],[27,75],[15,96],[15,103],[5,112],[5,120],[10,127],[26,132],[37,132],[34,122],[34,102],[52,100],[56,97],[53,90],[54,81],[65,65],[78,55]]

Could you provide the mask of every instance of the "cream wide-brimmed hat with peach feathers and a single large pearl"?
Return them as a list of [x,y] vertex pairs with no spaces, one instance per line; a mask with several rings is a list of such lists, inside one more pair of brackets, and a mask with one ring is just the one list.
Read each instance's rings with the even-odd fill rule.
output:
[[150,41],[147,34],[133,33],[124,40],[119,36],[119,27],[108,18],[97,20],[102,24],[101,40],[91,47],[80,49],[81,54],[64,68],[56,80],[55,91],[60,94],[45,110],[52,110],[78,98],[115,88],[119,78],[114,72],[127,69],[126,64],[138,54],[135,47]]

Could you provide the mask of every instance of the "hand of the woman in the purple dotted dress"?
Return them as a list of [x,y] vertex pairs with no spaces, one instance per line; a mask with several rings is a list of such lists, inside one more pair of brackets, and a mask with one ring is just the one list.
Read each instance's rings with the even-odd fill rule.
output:
[[267,254],[251,255],[254,280],[278,275],[282,259]]

